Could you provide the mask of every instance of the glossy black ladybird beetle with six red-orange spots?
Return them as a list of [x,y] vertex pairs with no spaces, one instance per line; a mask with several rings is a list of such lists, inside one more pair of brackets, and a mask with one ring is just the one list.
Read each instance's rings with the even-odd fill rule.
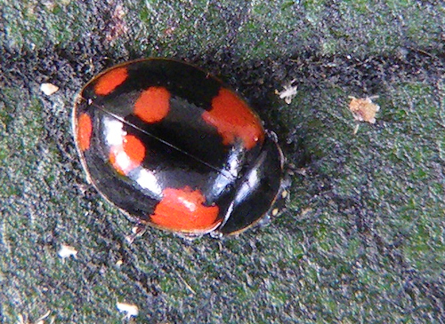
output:
[[172,59],[111,67],[73,112],[89,181],[142,225],[239,233],[287,195],[276,136],[212,75]]

